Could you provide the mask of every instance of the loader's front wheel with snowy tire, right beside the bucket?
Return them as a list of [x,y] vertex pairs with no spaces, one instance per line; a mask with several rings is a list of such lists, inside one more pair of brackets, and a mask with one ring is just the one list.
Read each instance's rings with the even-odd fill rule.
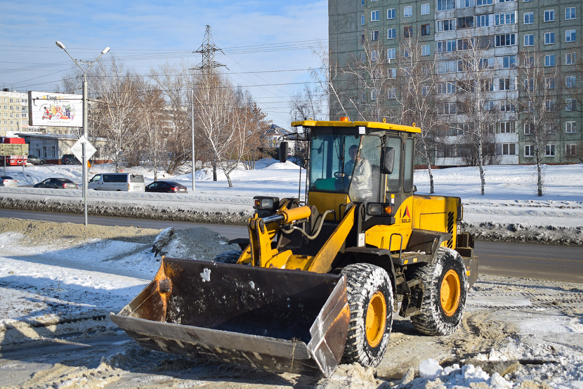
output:
[[[393,323],[393,289],[385,271],[375,265],[345,267],[350,324],[343,363],[377,366],[387,350]],[[384,305],[384,310],[380,310]],[[371,310],[372,309],[372,310]],[[370,316],[368,316],[370,311]],[[374,314],[377,311],[378,314]],[[370,330],[367,331],[367,323]]]

